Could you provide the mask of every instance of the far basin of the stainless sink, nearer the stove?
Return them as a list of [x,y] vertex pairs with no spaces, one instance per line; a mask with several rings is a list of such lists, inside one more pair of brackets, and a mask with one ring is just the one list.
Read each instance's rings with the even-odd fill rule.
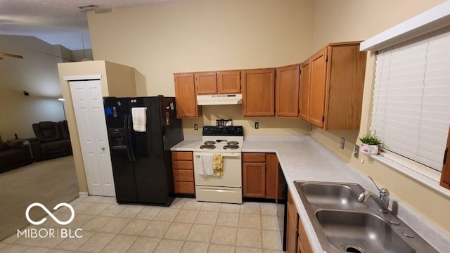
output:
[[366,202],[358,202],[364,188],[356,183],[302,183],[301,190],[311,205],[337,209],[367,209]]

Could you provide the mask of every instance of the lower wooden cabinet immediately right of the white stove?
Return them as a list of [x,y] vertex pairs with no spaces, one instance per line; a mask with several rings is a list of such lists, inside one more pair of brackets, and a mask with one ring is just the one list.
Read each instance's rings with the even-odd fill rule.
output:
[[275,199],[278,158],[274,153],[243,153],[243,197]]

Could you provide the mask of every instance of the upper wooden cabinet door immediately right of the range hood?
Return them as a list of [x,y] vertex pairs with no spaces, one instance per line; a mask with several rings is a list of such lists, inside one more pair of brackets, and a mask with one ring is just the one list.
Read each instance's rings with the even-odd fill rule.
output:
[[244,116],[275,115],[275,70],[243,70],[241,72]]

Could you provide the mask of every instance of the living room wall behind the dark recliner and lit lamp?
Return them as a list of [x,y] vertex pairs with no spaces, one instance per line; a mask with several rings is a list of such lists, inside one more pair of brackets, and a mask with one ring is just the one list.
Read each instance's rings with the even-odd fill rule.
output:
[[[0,51],[23,56],[0,60],[0,135],[34,136],[32,124],[64,119],[57,63],[61,46],[36,37],[0,35]],[[51,56],[50,56],[51,55]],[[30,93],[24,96],[23,91]]]

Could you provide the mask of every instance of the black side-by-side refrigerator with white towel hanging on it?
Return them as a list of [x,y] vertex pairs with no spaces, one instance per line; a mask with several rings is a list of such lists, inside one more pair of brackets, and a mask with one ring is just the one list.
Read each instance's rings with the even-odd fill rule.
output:
[[117,203],[169,206],[174,200],[170,148],[183,141],[175,98],[105,97],[103,105]]

